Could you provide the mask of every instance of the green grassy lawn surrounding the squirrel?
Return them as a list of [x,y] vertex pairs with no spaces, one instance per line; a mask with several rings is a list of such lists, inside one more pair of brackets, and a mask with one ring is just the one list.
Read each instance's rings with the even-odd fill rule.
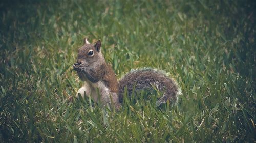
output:
[[[255,142],[254,1],[1,1],[0,142]],[[165,70],[182,89],[120,111],[74,99],[84,37],[118,78]],[[141,93],[143,94],[143,93]]]

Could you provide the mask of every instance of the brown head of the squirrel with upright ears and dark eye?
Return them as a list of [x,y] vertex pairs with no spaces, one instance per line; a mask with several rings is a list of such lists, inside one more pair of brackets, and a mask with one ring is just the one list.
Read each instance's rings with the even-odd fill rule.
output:
[[98,40],[95,44],[88,42],[87,38],[83,40],[83,46],[78,49],[77,63],[89,66],[94,62],[104,61],[104,57],[100,51],[101,41]]

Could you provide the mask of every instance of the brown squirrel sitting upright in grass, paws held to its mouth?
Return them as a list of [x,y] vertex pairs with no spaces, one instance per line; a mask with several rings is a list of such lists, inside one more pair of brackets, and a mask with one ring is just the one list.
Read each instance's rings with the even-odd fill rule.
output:
[[125,89],[128,95],[133,91],[157,88],[163,92],[163,96],[156,101],[156,106],[166,103],[171,104],[178,101],[181,90],[175,80],[169,78],[164,71],[152,68],[131,70],[123,78],[117,81],[112,67],[106,63],[101,53],[101,40],[95,44],[83,40],[83,46],[78,49],[78,57],[73,69],[77,71],[80,80],[84,85],[78,90],[78,94],[84,98],[91,96],[94,102],[101,102],[103,105],[114,105],[119,110],[123,102]]

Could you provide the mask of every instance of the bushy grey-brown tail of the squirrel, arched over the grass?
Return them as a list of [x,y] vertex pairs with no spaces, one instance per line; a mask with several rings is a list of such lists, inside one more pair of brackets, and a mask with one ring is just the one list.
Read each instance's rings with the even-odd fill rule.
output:
[[[135,86],[135,89],[134,89]],[[129,95],[134,90],[153,89],[156,87],[159,91],[164,92],[163,96],[156,102],[156,106],[166,103],[171,104],[178,101],[178,95],[181,93],[178,84],[169,78],[165,72],[151,68],[136,69],[125,74],[119,81],[119,102],[123,102],[123,93],[125,87]]]

